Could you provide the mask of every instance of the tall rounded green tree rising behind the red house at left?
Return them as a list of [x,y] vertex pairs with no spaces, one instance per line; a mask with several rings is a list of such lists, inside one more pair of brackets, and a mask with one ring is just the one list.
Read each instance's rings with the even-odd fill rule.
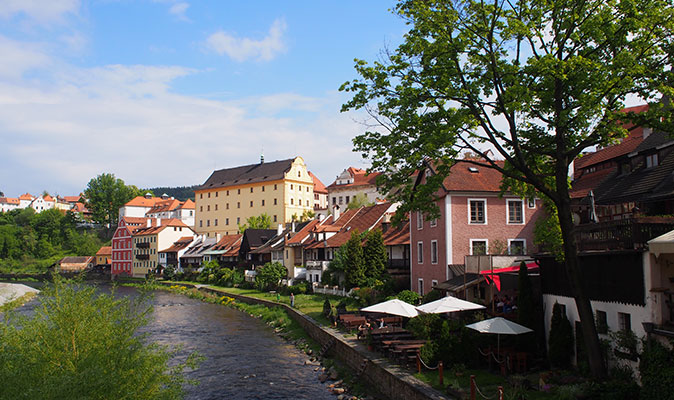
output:
[[87,208],[91,211],[92,219],[99,224],[109,227],[117,225],[119,208],[141,191],[135,186],[127,186],[124,181],[115,178],[114,174],[101,174],[92,178],[84,190]]

